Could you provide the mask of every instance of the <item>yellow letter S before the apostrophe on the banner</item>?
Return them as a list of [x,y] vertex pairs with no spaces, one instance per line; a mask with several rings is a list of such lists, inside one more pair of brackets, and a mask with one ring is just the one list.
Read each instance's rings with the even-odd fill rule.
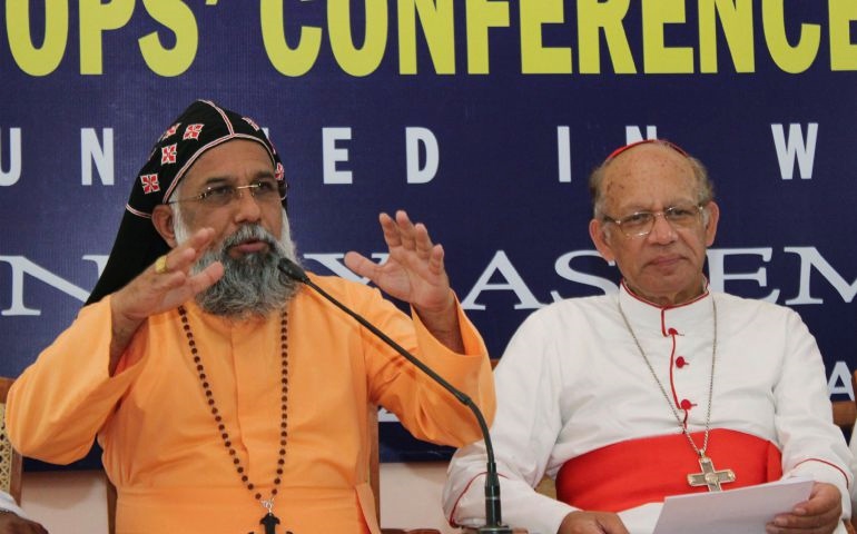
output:
[[160,76],[178,76],[185,72],[194,62],[199,46],[199,30],[194,12],[180,1],[142,0],[142,4],[152,19],[176,34],[176,46],[173,49],[164,48],[155,31],[141,37],[140,52],[146,65]]

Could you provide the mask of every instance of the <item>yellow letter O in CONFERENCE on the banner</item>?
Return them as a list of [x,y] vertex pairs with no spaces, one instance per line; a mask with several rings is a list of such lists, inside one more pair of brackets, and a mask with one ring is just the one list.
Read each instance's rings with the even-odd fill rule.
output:
[[354,46],[351,32],[349,0],[327,0],[327,30],[331,48],[339,67],[351,76],[367,76],[384,59],[387,42],[386,0],[365,0],[366,37],[363,47]]

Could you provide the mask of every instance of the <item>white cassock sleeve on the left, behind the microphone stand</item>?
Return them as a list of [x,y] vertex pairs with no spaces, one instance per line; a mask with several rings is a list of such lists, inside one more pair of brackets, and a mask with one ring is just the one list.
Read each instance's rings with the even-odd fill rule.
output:
[[[554,534],[577,508],[536,493],[561,429],[556,403],[559,369],[550,336],[539,322],[525,322],[494,372],[498,411],[491,429],[501,484],[503,523],[531,534]],[[544,356],[544,357],[540,357]],[[443,506],[453,524],[480,526],[485,521],[486,455],[482,442],[459,449],[450,463]]]

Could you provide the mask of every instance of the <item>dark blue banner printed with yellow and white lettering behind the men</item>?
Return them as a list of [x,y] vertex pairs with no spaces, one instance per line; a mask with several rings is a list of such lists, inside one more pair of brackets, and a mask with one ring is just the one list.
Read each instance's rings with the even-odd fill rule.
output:
[[[308,268],[348,276],[344,253],[383,254],[377,214],[404,208],[494,357],[534,309],[615,290],[588,174],[670,139],[716,181],[712,288],[797,310],[853,398],[853,0],[3,3],[2,375],[71,323],[152,142],[206,98],[268,129]],[[382,438],[386,461],[450,452]]]

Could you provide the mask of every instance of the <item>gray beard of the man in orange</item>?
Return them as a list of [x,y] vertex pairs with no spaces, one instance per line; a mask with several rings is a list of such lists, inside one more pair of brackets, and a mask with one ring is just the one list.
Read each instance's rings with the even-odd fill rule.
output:
[[[179,226],[184,224],[176,220],[176,227]],[[177,237],[179,234],[186,233],[179,231]],[[268,250],[245,254],[238,258],[229,256],[230,247],[247,239],[267,243]],[[297,283],[282,275],[277,268],[279,260],[285,257],[297,261],[285,217],[279,239],[259,225],[242,226],[218,249],[206,251],[190,269],[191,274],[198,274],[215,261],[224,266],[223,278],[199,293],[196,296],[197,304],[209,314],[234,319],[267,316],[282,308],[299,289]]]

